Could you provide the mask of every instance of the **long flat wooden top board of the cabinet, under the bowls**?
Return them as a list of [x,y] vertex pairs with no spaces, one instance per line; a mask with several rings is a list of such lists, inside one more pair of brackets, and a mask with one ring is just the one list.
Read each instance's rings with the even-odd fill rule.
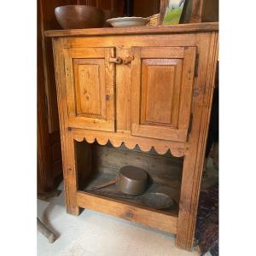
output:
[[172,26],[101,27],[88,29],[48,30],[44,33],[46,37],[86,37],[212,31],[218,31],[218,22],[189,23]]

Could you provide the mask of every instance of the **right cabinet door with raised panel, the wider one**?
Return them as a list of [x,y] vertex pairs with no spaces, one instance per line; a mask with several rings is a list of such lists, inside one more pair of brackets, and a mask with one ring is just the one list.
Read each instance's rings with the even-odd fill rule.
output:
[[187,140],[195,47],[133,47],[131,134]]

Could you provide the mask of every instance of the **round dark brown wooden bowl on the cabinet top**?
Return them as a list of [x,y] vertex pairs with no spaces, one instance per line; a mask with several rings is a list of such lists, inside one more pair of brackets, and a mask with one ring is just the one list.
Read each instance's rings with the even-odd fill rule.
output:
[[56,7],[55,17],[64,29],[102,27],[105,23],[101,9],[86,5]]

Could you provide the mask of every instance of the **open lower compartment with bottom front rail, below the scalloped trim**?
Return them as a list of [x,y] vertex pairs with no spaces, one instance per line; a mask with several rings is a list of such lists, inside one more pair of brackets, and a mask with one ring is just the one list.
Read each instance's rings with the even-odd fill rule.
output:
[[[101,146],[97,143],[83,143],[77,145],[77,152],[79,148],[82,149],[79,155],[80,160],[77,159],[79,167],[77,204],[79,207],[125,218],[157,230],[177,233],[183,159],[174,158],[170,153],[160,155],[154,150],[145,153],[139,148],[130,150],[124,146],[114,148],[111,144]],[[139,200],[140,195],[122,194],[116,189],[115,184],[90,191],[93,187],[113,180],[119,168],[125,165],[141,167],[148,172],[150,183],[148,183],[146,192],[158,186],[172,189],[175,207],[161,210],[148,207]]]

